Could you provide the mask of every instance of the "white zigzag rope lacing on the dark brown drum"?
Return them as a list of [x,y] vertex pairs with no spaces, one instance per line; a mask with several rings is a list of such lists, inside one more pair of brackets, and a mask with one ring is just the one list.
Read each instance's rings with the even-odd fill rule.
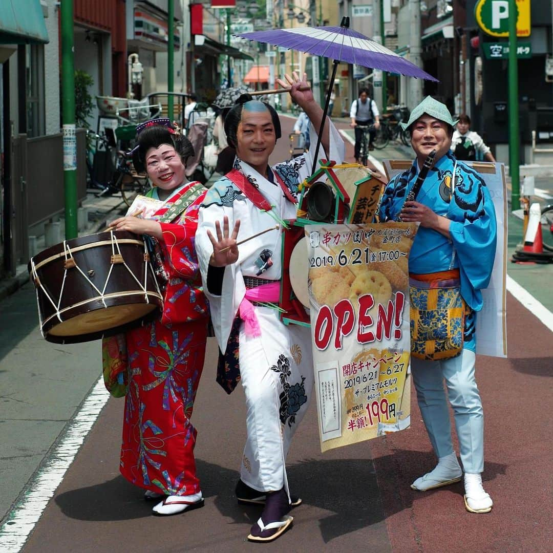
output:
[[[117,241],[117,238],[115,236],[113,236],[113,231],[110,231],[110,236],[111,236],[111,249],[112,249],[112,255],[116,255],[116,248],[117,248],[117,254],[121,257],[121,259],[123,259],[123,255],[121,254],[121,249],[119,248],[119,243]],[[88,278],[88,276],[84,273],[84,271],[79,267],[79,265],[77,265],[77,262],[75,261],[75,258],[73,257],[73,253],[71,252],[71,248],[67,245],[67,241],[64,240],[64,257],[65,257],[65,262],[67,262],[68,259],[71,259],[73,262],[74,262],[74,265],[72,265],[72,267],[76,267],[77,270],[79,270],[79,273],[81,273],[81,275],[85,278],[85,280],[88,282],[88,284],[90,284],[92,286],[93,289],[95,289],[97,291],[97,293],[99,294],[98,298],[95,298],[95,299],[100,299],[103,303],[103,306],[104,307],[107,307],[107,304],[106,304],[106,300],[105,300],[105,294],[106,294],[106,288],[107,288],[107,285],[109,283],[109,278],[111,276],[111,272],[113,270],[113,265],[114,263],[111,263],[111,266],[109,267],[109,272],[107,274],[107,278],[106,278],[106,282],[103,286],[103,289],[102,291],[100,291],[100,289],[97,288],[97,286]],[[147,304],[149,304],[150,302],[150,298],[149,298],[149,295],[148,295],[148,289],[147,289],[147,284],[148,284],[148,259],[149,259],[149,256],[148,256],[148,249],[147,249],[147,246],[146,246],[146,243],[144,242],[144,284],[142,284],[137,278],[136,276],[133,274],[132,270],[129,268],[129,266],[127,265],[127,263],[125,262],[125,260],[123,259],[122,261],[122,264],[123,266],[128,270],[129,274],[131,274],[131,276],[133,277],[133,279],[136,281],[136,283],[138,284],[138,286],[140,287],[140,290],[144,292],[144,299],[145,299],[145,302]],[[46,289],[44,288],[44,285],[42,284],[42,282],[40,281],[40,279],[38,278],[38,273],[36,273],[36,269],[35,269],[35,262],[34,262],[34,258],[31,258],[30,260],[30,263],[31,263],[31,271],[32,271],[32,274],[33,274],[33,279],[34,279],[34,282],[35,282],[35,285],[36,285],[36,301],[38,303],[39,301],[39,298],[38,298],[38,288],[40,288],[44,295],[46,296],[46,298],[48,298],[48,300],[50,301],[50,303],[52,304],[52,306],[54,307],[56,313],[55,315],[58,317],[58,320],[60,322],[64,322],[64,320],[61,318],[61,311],[65,311],[64,310],[60,310],[60,306],[61,306],[61,300],[63,298],[63,293],[64,293],[64,286],[65,286],[65,279],[66,279],[66,276],[67,276],[67,270],[69,269],[69,267],[67,267],[67,263],[65,263],[65,267],[64,267],[64,276],[63,276],[63,279],[61,281],[61,290],[60,290],[60,297],[59,297],[59,300],[58,300],[58,304],[56,305],[55,301],[50,298],[50,295],[48,294],[48,291],[46,291]],[[71,267],[71,268],[72,268]],[[150,269],[152,270],[152,273],[153,273],[153,268],[151,267],[150,265]],[[159,290],[159,285],[158,285],[158,281],[157,279],[155,278],[155,274],[153,273],[153,276],[154,276],[154,282],[155,282],[155,286],[156,286],[156,289],[158,291],[159,294],[161,294],[160,290]],[[40,306],[39,306],[39,322],[40,322],[40,327],[41,327],[41,331],[42,331],[42,325],[43,325],[43,321],[42,321],[42,317],[40,315]],[[44,333],[43,333],[43,336],[44,336]]]

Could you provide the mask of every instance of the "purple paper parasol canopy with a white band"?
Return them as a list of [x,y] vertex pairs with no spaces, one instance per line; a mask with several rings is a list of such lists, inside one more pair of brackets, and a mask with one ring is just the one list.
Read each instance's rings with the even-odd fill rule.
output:
[[418,79],[437,81],[415,64],[382,44],[349,27],[303,27],[270,29],[238,34],[241,38],[284,46],[324,58],[399,73]]

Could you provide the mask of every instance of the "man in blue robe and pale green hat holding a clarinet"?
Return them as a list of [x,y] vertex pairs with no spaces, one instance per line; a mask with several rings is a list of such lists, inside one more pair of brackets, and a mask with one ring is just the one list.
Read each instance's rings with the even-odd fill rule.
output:
[[[484,181],[450,151],[454,124],[447,107],[430,96],[413,109],[404,128],[411,131],[416,157],[411,168],[395,176],[384,190],[379,219],[385,222],[399,217],[405,222],[420,222],[409,257],[411,307],[418,301],[414,286],[418,293],[437,281],[460,286],[466,303],[464,332],[459,325],[462,346],[456,357],[440,359],[437,354],[439,360],[435,361],[416,358],[411,336],[411,372],[422,419],[438,458],[437,466],[417,478],[411,488],[426,491],[446,486],[459,482],[463,474],[451,441],[445,379],[465,471],[465,506],[471,513],[487,513],[492,499],[482,487],[484,426],[474,362],[476,312],[482,309],[481,290],[488,286],[492,274],[496,221]],[[433,150],[434,166],[416,201],[409,201],[407,196]]]

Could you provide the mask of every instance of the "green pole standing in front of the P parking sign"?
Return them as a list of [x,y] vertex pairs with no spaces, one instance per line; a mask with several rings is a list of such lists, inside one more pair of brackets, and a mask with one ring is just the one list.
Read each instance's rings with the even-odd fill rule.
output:
[[517,4],[509,0],[509,173],[511,208],[520,209]]

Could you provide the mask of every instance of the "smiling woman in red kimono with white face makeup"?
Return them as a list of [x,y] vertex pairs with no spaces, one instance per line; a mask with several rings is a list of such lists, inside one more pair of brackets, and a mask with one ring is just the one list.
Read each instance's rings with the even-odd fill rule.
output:
[[143,123],[137,134],[134,164],[153,182],[148,196],[164,205],[151,219],[121,217],[111,224],[146,235],[164,309],[161,319],[126,334],[129,385],[120,470],[145,489],[146,499],[162,499],[154,514],[170,515],[204,504],[190,416],[207,337],[208,308],[194,249],[206,189],[186,181],[186,158],[194,152],[169,119]]

